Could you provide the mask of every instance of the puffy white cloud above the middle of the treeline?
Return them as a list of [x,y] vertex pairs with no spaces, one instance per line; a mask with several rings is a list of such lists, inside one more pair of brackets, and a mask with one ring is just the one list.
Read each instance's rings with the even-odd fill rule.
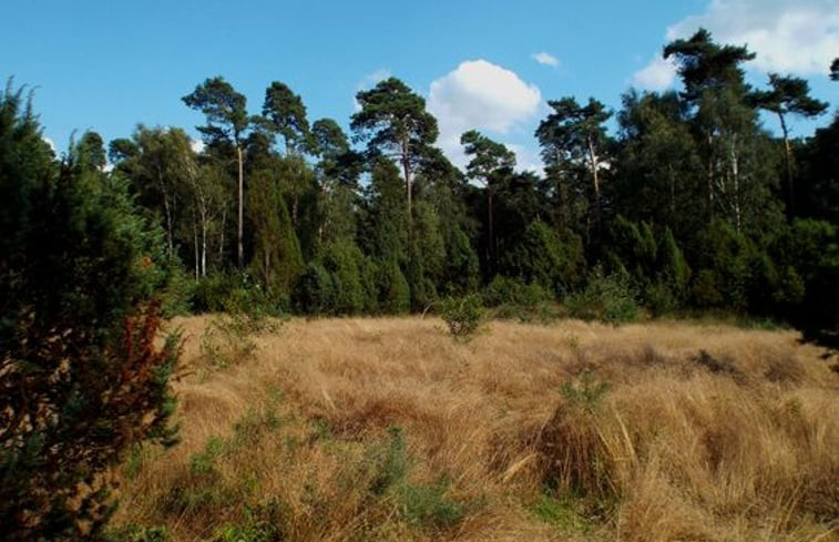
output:
[[509,134],[539,111],[542,94],[519,75],[485,60],[462,62],[433,81],[428,111],[440,124],[439,144],[456,165],[467,163],[460,135],[468,130]]

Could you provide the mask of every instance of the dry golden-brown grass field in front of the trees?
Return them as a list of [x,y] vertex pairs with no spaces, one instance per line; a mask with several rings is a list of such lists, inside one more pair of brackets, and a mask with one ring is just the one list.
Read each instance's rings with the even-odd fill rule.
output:
[[207,319],[175,324],[182,442],[126,458],[116,525],[172,541],[839,536],[839,375],[792,331],[492,321],[457,342],[436,318],[294,319],[218,367]]

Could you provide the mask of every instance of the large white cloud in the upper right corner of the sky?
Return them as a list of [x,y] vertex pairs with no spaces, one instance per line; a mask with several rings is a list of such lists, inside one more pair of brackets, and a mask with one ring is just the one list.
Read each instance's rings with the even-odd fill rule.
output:
[[713,0],[705,13],[669,29],[667,40],[688,38],[699,27],[718,43],[747,45],[759,71],[827,73],[839,51],[836,0]]

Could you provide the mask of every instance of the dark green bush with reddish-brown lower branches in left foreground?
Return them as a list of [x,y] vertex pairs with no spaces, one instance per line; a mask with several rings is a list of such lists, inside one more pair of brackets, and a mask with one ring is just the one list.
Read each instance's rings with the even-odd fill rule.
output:
[[0,524],[4,540],[94,538],[109,469],[171,443],[161,345],[172,268],[163,232],[84,134],[58,163],[21,91],[0,94]]

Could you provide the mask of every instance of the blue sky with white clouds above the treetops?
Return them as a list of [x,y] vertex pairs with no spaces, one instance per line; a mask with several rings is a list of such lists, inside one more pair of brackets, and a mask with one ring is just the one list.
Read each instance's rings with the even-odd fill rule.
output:
[[[826,73],[839,55],[839,0],[559,0],[286,2],[7,0],[0,76],[37,86],[44,135],[62,151],[73,130],[105,140],[142,122],[196,134],[181,96],[224,75],[262,106],[283,81],[310,120],[342,125],[354,95],[395,75],[423,94],[456,161],[460,132],[478,129],[538,164],[533,130],[545,101],[593,95],[610,106],[631,85],[674,84],[655,60],[662,45],[699,25],[758,53],[750,78],[789,72],[832,104]],[[829,122],[794,122],[798,135]],[[769,126],[769,121],[767,121]]]

